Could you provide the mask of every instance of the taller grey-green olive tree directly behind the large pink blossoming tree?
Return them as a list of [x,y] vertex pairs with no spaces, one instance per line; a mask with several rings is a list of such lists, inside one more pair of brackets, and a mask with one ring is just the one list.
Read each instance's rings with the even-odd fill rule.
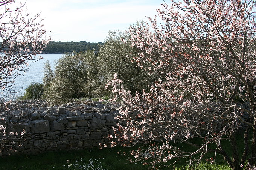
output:
[[137,65],[138,63],[131,62],[133,57],[139,56],[138,53],[136,48],[130,46],[127,33],[109,31],[104,45],[100,47],[98,60],[103,87],[117,73],[123,80],[124,88],[130,90],[133,95],[136,91],[149,89],[148,86],[153,81],[152,76]]

